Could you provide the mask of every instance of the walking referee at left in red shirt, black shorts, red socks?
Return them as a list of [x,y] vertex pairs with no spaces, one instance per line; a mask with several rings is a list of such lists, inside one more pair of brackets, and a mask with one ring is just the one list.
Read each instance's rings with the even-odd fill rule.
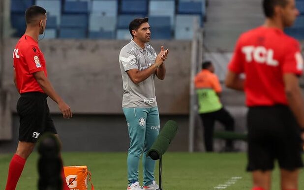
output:
[[[43,34],[46,27],[46,10],[39,6],[30,6],[25,12],[25,20],[26,32],[13,52],[14,83],[20,93],[17,102],[17,113],[20,117],[19,142],[9,164],[5,190],[16,189],[26,159],[33,151],[39,136],[44,132],[51,132],[58,137],[47,105],[47,96],[58,104],[63,118],[72,117],[70,107],[55,92],[47,78],[46,63],[38,46],[39,34]],[[61,173],[63,190],[69,190],[63,168]]]

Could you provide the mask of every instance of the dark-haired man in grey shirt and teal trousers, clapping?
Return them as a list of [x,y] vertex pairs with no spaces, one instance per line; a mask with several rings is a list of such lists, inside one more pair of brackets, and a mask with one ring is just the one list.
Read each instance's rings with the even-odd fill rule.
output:
[[[159,114],[155,97],[154,78],[164,79],[166,68],[164,61],[169,50],[157,55],[150,41],[150,26],[148,18],[134,19],[129,24],[133,37],[125,45],[119,56],[122,71],[123,97],[122,110],[125,115],[130,137],[128,150],[127,190],[158,190],[154,180],[155,161],[147,156],[159,133]],[[144,187],[139,185],[138,164],[143,154]]]

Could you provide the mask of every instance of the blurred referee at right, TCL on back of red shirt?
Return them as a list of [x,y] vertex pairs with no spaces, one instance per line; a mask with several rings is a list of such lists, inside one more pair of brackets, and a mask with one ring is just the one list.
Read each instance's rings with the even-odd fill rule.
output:
[[263,7],[265,24],[240,36],[225,84],[246,95],[252,190],[270,190],[274,160],[280,166],[281,190],[297,190],[303,167],[299,76],[304,61],[299,42],[283,30],[293,25],[299,11],[295,0],[263,0]]

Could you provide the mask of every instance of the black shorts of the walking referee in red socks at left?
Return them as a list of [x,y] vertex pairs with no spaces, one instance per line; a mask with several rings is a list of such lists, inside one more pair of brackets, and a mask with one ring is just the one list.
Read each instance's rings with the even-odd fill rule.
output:
[[44,132],[57,134],[46,98],[46,94],[39,92],[21,94],[17,102],[19,141],[35,143]]

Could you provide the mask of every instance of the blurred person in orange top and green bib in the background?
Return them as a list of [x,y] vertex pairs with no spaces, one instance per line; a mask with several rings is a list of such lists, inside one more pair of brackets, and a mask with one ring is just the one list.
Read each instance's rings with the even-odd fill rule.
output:
[[[202,63],[202,70],[194,79],[198,97],[199,114],[203,121],[205,148],[213,152],[213,131],[215,121],[224,125],[225,130],[234,130],[234,119],[220,102],[222,88],[217,76],[214,74],[212,62]],[[224,151],[233,151],[233,141],[227,140]]]

